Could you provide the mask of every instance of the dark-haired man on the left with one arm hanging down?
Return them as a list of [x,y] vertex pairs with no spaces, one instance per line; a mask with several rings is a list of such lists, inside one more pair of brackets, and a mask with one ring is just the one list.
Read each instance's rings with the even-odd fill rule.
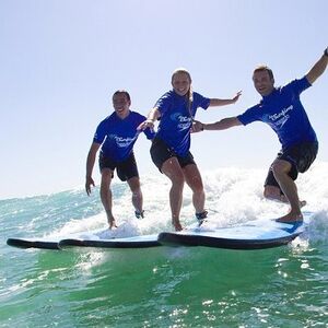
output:
[[[137,218],[143,218],[142,192],[140,188],[139,173],[133,154],[133,145],[140,131],[137,127],[145,120],[139,113],[131,112],[131,99],[127,91],[117,91],[113,95],[115,112],[106,117],[97,127],[86,160],[85,190],[91,194],[91,186],[94,186],[92,171],[98,149],[99,168],[102,174],[101,199],[105,208],[109,229],[116,227],[112,207],[110,183],[116,168],[117,175],[122,181],[127,181],[132,192],[132,204]],[[154,132],[145,129],[148,139],[154,138]]]

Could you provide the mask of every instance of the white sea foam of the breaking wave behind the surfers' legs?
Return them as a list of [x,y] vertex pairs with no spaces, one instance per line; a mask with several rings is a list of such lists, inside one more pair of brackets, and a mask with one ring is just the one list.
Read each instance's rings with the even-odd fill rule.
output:
[[[218,168],[203,172],[203,184],[207,195],[206,208],[212,227],[231,226],[256,219],[273,219],[283,215],[288,206],[266,200],[262,185],[266,169]],[[301,199],[306,199],[305,211],[314,212],[307,236],[314,241],[325,241],[328,235],[328,163],[316,162],[308,172],[297,179]],[[169,180],[159,174],[142,176],[145,218],[138,220],[133,215],[131,192],[126,184],[113,184],[114,214],[119,225],[108,231],[108,236],[125,237],[144,235],[172,230],[168,192]],[[118,190],[118,191],[116,191]],[[74,190],[77,192],[77,189]],[[180,221],[184,226],[194,224],[195,210],[191,191],[188,186],[184,190],[184,203]],[[84,219],[74,218],[66,223],[56,235],[68,235],[83,231],[107,229],[104,212]]]

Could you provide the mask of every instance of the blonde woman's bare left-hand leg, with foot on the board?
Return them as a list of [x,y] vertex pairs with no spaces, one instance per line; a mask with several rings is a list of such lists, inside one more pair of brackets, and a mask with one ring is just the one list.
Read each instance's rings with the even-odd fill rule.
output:
[[183,230],[180,224],[180,210],[183,204],[184,173],[176,157],[166,160],[162,165],[162,172],[171,179],[169,206],[172,213],[172,224],[176,231]]

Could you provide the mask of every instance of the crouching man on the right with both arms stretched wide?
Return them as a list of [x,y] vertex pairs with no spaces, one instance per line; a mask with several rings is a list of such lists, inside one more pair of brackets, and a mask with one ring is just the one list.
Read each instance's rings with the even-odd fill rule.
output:
[[272,71],[261,66],[255,69],[253,82],[262,96],[261,102],[236,117],[224,118],[213,124],[196,121],[194,132],[201,130],[224,130],[234,126],[248,125],[253,121],[268,124],[278,134],[281,151],[271,164],[266,183],[265,197],[289,202],[289,213],[279,218],[279,222],[302,221],[297,188],[294,180],[298,172],[304,173],[314,162],[318,141],[311,126],[306,112],[300,101],[300,94],[309,87],[326,70],[328,48],[309,72],[300,80],[294,80],[282,87],[274,87]]

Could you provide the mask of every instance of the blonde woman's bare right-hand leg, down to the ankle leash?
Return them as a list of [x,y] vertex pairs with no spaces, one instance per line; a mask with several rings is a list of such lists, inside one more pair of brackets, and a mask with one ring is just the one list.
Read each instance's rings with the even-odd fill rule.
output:
[[202,179],[197,165],[189,164],[183,168],[186,183],[192,190],[192,203],[196,213],[204,211],[206,195],[203,191]]

